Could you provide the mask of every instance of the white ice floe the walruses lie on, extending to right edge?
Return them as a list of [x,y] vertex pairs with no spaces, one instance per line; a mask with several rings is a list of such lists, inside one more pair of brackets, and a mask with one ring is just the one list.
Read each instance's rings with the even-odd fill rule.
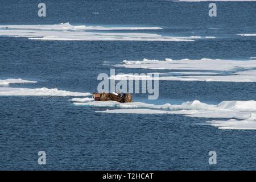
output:
[[[115,101],[74,102],[75,105],[91,107],[114,107],[118,109],[97,111],[121,114],[182,114],[196,118],[232,118],[228,121],[209,121],[207,125],[220,129],[256,129],[256,101],[222,101],[218,105],[200,101],[184,102],[180,105],[154,105],[143,102],[119,103]],[[234,119],[236,118],[236,119]]]

